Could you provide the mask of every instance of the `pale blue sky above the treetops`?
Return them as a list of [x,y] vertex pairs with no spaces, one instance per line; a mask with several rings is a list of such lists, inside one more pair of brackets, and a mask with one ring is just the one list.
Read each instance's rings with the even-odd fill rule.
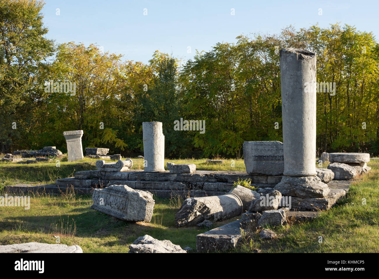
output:
[[279,33],[290,24],[299,29],[317,22],[321,27],[341,22],[377,36],[378,3],[46,0],[42,13],[49,28],[47,37],[56,43],[97,43],[105,51],[124,55],[123,60],[147,63],[157,49],[187,60],[193,57],[195,49],[208,51],[217,42],[233,43],[241,34]]

